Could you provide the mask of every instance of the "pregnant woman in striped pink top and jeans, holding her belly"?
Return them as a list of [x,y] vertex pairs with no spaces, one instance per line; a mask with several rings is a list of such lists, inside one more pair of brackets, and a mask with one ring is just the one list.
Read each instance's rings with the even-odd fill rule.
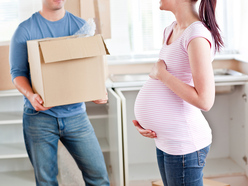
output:
[[135,102],[133,121],[154,138],[165,186],[203,186],[203,167],[212,142],[201,111],[214,103],[214,54],[223,46],[215,19],[216,0],[161,0],[176,21],[164,31],[159,60]]

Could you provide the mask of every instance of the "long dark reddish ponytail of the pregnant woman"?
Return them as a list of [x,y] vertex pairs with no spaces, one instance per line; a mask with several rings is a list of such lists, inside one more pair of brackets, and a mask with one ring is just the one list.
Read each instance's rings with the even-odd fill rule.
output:
[[[197,1],[197,0],[193,0]],[[224,42],[220,35],[220,28],[215,18],[215,8],[217,0],[201,0],[199,6],[199,16],[205,27],[212,33],[215,41],[215,50],[220,51]]]

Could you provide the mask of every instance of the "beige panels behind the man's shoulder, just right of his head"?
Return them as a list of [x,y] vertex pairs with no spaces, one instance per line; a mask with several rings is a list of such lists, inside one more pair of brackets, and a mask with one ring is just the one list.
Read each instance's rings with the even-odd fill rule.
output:
[[111,38],[110,0],[67,0],[65,9],[86,21],[94,18],[96,34]]

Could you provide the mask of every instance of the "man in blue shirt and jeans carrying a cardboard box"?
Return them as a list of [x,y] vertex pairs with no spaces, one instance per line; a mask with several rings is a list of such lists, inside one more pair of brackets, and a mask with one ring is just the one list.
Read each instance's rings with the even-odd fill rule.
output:
[[[85,104],[43,107],[42,98],[31,87],[27,40],[73,35],[86,23],[65,11],[65,1],[42,0],[41,11],[22,22],[11,40],[11,75],[16,88],[24,95],[26,150],[37,185],[58,185],[57,148],[60,140],[76,161],[86,185],[107,186],[109,180],[103,154]],[[107,100],[94,102],[104,104]]]

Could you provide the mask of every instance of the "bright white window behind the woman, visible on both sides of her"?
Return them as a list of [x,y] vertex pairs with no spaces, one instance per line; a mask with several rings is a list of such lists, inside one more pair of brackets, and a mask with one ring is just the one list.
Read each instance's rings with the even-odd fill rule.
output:
[[[112,38],[107,41],[111,55],[157,55],[164,28],[175,20],[174,15],[159,10],[159,0],[112,0],[111,3]],[[200,0],[198,6],[199,3]],[[240,8],[241,3],[232,0],[217,1],[216,18],[225,43],[222,53],[237,53],[239,49]]]

